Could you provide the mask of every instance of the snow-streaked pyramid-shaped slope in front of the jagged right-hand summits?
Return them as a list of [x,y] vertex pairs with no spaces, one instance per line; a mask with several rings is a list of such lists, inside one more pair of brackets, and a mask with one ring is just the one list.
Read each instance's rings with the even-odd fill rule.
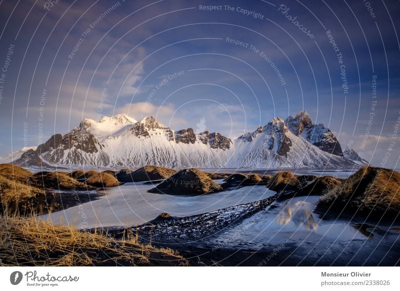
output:
[[226,166],[253,168],[356,166],[353,161],[341,155],[330,154],[309,142],[305,136],[301,134],[297,136],[293,132],[288,129],[283,119],[273,118],[265,126],[258,127],[255,131],[234,140],[235,154],[230,157]]

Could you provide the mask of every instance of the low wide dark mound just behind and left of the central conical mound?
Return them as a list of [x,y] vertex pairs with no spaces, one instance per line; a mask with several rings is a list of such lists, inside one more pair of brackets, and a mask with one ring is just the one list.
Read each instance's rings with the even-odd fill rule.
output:
[[134,171],[121,170],[116,176],[121,182],[143,182],[163,180],[170,177],[176,171],[170,168],[154,165],[146,165]]

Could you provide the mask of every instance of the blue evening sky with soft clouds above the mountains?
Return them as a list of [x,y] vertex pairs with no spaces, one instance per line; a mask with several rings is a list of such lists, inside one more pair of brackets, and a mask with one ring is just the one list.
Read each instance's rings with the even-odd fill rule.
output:
[[398,163],[398,1],[45,3],[0,4],[2,156],[83,117],[153,115],[176,130],[204,118],[206,130],[234,138],[306,110],[343,147]]

